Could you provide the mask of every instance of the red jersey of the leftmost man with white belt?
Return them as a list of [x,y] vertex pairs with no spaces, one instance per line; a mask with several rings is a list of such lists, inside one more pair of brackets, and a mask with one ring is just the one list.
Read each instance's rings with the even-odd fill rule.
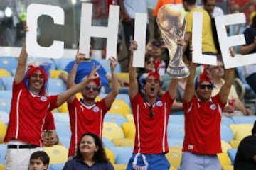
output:
[[57,108],[57,96],[36,96],[26,89],[23,81],[19,84],[14,82],[12,91],[9,125],[4,142],[21,140],[42,147],[46,115]]

